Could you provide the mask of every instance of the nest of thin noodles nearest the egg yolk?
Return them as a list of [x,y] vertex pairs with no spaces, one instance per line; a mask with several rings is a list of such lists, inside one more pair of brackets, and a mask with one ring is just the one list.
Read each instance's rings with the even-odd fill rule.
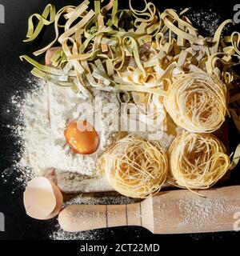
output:
[[146,198],[166,181],[168,162],[160,145],[128,135],[102,156],[102,170],[120,194]]

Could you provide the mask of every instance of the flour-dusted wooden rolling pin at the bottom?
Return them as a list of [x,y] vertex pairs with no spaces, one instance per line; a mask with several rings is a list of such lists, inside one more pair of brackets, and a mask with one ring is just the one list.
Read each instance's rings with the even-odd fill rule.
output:
[[240,226],[240,186],[199,192],[205,197],[188,190],[171,190],[132,205],[66,206],[58,222],[68,232],[143,226],[154,234],[226,231]]

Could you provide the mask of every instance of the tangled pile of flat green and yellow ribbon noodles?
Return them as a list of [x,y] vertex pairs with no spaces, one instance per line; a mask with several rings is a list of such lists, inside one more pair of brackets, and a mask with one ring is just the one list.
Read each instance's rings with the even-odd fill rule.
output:
[[[224,26],[233,23],[231,20],[222,22],[210,39],[198,34],[185,15],[187,9],[180,14],[172,9],[160,13],[152,2],[146,1],[143,10],[135,10],[131,1],[130,10],[118,10],[117,0],[110,0],[106,6],[94,1],[94,10],[89,4],[85,0],[58,12],[47,5],[42,15],[30,17],[26,42],[37,38],[43,26],[54,24],[55,30],[54,40],[34,55],[45,53],[56,43],[62,46],[62,51],[52,58],[52,67],[21,56],[34,66],[32,74],[58,86],[71,87],[82,97],[90,97],[93,86],[116,94],[124,92],[125,102],[132,98],[135,104],[146,104],[147,98],[157,107],[162,105],[166,90],[178,74],[204,70],[218,76],[226,86],[234,81],[231,66],[240,62],[240,36],[235,31],[221,37]],[[33,17],[38,18],[36,26]],[[60,24],[61,18],[66,22]],[[221,69],[218,63],[222,63]],[[222,117],[224,112],[219,115]]]

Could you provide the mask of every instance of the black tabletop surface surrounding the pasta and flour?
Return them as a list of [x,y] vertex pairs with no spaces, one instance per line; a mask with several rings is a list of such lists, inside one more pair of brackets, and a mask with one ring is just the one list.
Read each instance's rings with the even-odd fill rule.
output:
[[[0,24],[0,174],[7,173],[5,177],[0,176],[0,212],[6,217],[6,232],[0,232],[0,240],[6,239],[49,239],[49,234],[57,229],[56,220],[43,221],[34,220],[26,216],[23,203],[22,192],[24,188],[16,182],[18,176],[12,167],[18,161],[18,151],[21,147],[16,143],[16,138],[11,134],[8,125],[16,124],[15,118],[18,113],[10,109],[10,98],[20,91],[20,96],[26,90],[30,90],[30,85],[26,78],[30,76],[31,66],[26,62],[20,62],[18,56],[22,54],[31,55],[34,50],[45,46],[53,38],[53,30],[47,30],[44,38],[40,37],[37,43],[23,43],[26,36],[27,19],[30,14],[42,13],[47,3],[53,3],[57,9],[66,5],[78,5],[81,1],[73,0],[0,0],[0,4],[5,6],[6,23]],[[122,8],[128,6],[128,1],[119,0]],[[133,0],[133,6],[140,8],[142,0]],[[202,1],[173,1],[155,0],[152,1],[160,11],[166,8],[179,10],[191,7],[191,11],[210,10],[217,12],[220,22],[226,18],[233,18],[233,6],[240,1],[209,1],[205,4]],[[181,6],[180,6],[181,5]],[[203,18],[204,20],[204,18]],[[200,29],[201,30],[201,29]],[[239,25],[234,27],[239,31]],[[206,31],[202,30],[202,33]],[[38,58],[41,60],[41,58]],[[10,109],[10,113],[6,110]],[[230,121],[230,149],[239,142],[239,134]],[[37,142],[36,142],[37,143]],[[44,161],[44,159],[42,159]],[[240,185],[239,166],[231,175],[231,181],[226,185]],[[14,191],[14,193],[13,193]],[[240,196],[240,195],[239,195]],[[128,239],[142,238],[146,240],[158,239],[158,242],[176,241],[202,241],[202,242],[225,242],[240,238],[240,232],[221,232],[210,234],[181,234],[181,235],[154,235],[140,227],[118,227],[114,229],[101,230],[102,239]]]

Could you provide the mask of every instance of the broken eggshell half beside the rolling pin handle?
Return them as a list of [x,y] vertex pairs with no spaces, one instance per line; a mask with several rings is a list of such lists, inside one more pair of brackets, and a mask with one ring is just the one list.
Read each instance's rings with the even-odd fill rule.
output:
[[33,178],[23,194],[26,214],[32,218],[50,219],[62,209],[62,193],[53,182],[44,177]]

